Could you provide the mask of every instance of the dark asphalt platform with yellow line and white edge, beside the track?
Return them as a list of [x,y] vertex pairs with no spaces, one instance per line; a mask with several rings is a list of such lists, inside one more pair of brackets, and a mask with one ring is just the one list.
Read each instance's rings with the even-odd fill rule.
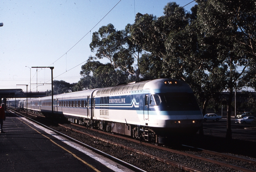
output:
[[3,130],[1,171],[132,171],[11,112]]

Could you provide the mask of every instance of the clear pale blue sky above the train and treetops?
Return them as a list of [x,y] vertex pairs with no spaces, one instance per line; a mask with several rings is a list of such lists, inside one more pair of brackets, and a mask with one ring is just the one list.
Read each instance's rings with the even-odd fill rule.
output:
[[[175,2],[184,6],[191,1]],[[172,1],[1,0],[0,23],[4,26],[0,27],[0,89],[26,91],[26,86],[16,84],[28,84],[30,90],[31,83],[31,91],[50,90],[50,84],[44,83],[51,83],[51,70],[39,68],[36,72],[31,68],[36,66],[54,66],[54,80],[78,82],[83,62],[94,55],[89,47],[93,32],[109,23],[122,30],[134,23],[137,12],[162,16],[168,2]],[[185,9],[190,11],[195,4]]]

